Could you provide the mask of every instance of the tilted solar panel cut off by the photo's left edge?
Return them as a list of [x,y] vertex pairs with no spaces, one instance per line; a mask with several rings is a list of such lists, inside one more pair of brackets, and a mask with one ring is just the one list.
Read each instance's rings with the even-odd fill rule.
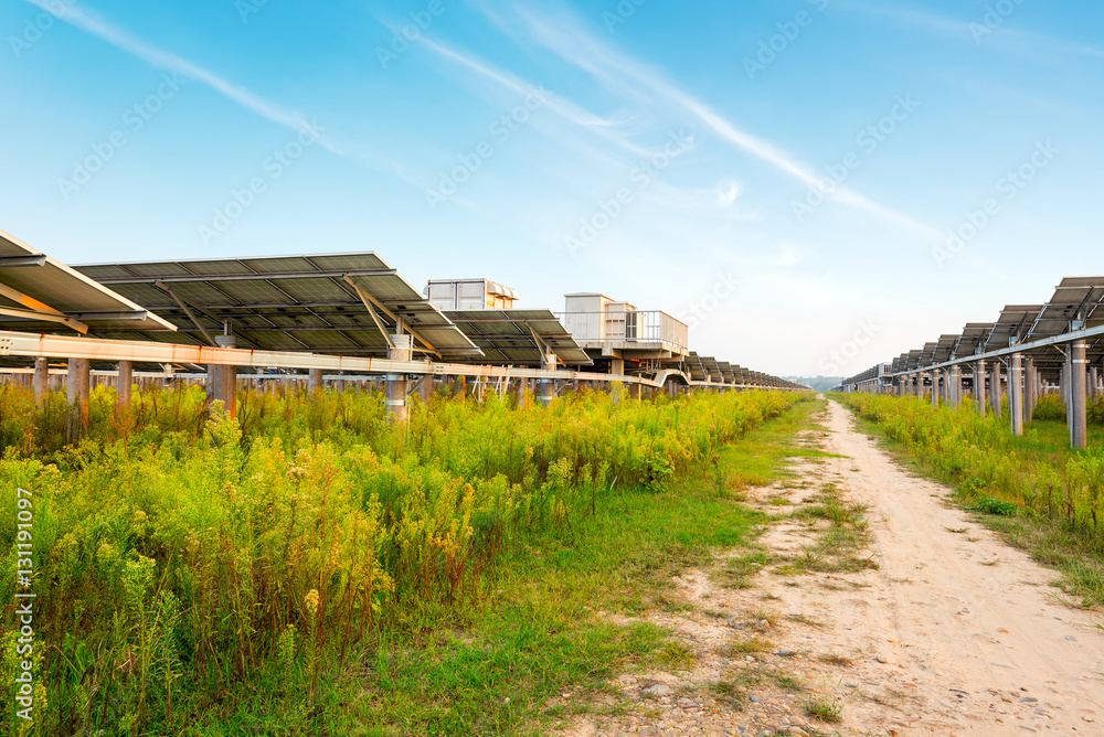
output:
[[0,328],[171,331],[169,321],[0,232]]

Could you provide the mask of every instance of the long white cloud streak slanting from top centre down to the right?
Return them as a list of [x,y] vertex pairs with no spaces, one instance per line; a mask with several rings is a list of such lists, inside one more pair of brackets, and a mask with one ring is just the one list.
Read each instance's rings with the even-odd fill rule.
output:
[[[617,94],[652,103],[656,96],[665,98],[668,104],[673,104],[682,114],[704,124],[713,133],[740,151],[768,163],[807,186],[818,186],[819,177],[811,167],[769,141],[740,129],[704,102],[668,82],[661,73],[618,52],[608,42],[597,39],[566,9],[561,9],[554,22],[550,22],[520,3],[511,2],[508,7],[511,22],[507,22],[486,3],[480,8],[503,32],[522,45],[537,43],[543,46],[563,61],[588,72]],[[846,186],[837,188],[830,199],[907,228],[925,238],[942,238],[936,228],[881,205]]]

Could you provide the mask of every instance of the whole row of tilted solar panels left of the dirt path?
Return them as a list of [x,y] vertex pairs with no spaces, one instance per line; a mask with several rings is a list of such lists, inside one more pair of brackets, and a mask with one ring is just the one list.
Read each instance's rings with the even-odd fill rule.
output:
[[[26,295],[60,314],[28,319]],[[190,345],[231,332],[238,348],[348,356],[386,355],[391,335],[407,332],[417,354],[454,363],[541,367],[549,352],[565,366],[595,360],[550,310],[444,312],[372,252],[70,268],[0,234],[3,328]],[[645,375],[677,366],[692,382],[805,388],[697,353],[644,365]]]

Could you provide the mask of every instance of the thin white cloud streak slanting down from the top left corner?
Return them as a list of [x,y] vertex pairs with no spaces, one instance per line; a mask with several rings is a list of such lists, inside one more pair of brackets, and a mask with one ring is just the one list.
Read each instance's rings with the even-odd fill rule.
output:
[[315,122],[302,113],[291,110],[272,100],[256,95],[241,85],[234,84],[214,72],[188,61],[177,54],[162,51],[146,43],[127,31],[105,21],[91,11],[67,3],[51,2],[50,0],[25,0],[33,6],[52,13],[56,18],[65,21],[70,25],[89,33],[102,41],[105,41],[120,51],[125,51],[141,61],[167,72],[176,72],[194,82],[199,82],[215,90],[226,99],[241,105],[244,108],[256,113],[261,117],[290,128],[296,132],[311,131],[316,142],[322,148],[337,153],[338,156],[367,163],[373,168],[401,172],[393,164],[382,162],[373,154],[363,152],[350,152],[336,143],[326,133],[318,132]]

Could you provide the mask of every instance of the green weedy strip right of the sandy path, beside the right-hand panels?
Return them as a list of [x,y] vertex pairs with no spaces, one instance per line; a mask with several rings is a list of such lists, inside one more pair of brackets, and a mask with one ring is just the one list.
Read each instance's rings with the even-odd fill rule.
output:
[[[956,489],[954,501],[1012,545],[1062,574],[1081,607],[1104,605],[1104,429],[1091,448],[1073,451],[1061,421],[1040,419],[1016,437],[1005,417],[980,417],[916,398],[836,395],[927,476]],[[1057,415],[1042,405],[1042,416]],[[1098,419],[1094,405],[1093,418]],[[1064,416],[1064,415],[1063,415]]]

